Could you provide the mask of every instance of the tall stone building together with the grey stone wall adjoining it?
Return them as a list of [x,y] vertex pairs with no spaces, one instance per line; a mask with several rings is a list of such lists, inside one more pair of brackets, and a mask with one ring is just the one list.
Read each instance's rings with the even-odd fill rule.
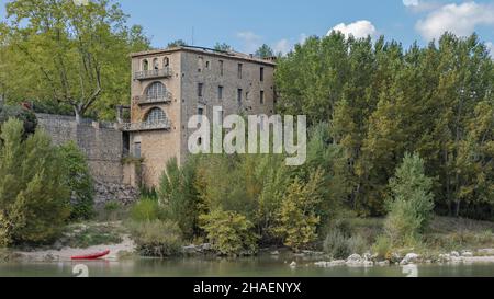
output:
[[55,145],[76,141],[102,184],[157,186],[170,159],[188,157],[189,119],[202,114],[212,123],[214,106],[223,108],[220,119],[274,113],[273,59],[198,47],[131,57],[130,123],[36,114]]

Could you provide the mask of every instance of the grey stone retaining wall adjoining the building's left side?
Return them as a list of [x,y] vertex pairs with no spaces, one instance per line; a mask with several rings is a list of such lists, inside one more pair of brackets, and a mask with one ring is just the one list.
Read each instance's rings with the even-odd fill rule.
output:
[[76,141],[88,157],[93,177],[99,182],[121,184],[122,131],[114,124],[83,119],[76,123],[75,117],[52,114],[36,114],[38,126],[44,128],[55,145]]

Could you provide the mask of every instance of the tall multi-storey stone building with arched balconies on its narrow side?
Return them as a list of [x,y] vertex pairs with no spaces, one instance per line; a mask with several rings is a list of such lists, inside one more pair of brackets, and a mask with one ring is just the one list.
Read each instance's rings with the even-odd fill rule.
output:
[[[173,47],[132,55],[131,123],[123,124],[124,151],[142,158],[124,181],[139,176],[156,186],[167,161],[187,159],[193,115],[274,113],[274,61],[235,51]],[[133,173],[134,172],[134,173]],[[131,179],[130,179],[131,177]]]

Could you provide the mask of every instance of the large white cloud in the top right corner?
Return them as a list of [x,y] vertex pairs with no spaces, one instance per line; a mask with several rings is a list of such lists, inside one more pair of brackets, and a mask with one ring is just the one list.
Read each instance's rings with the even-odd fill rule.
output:
[[446,31],[467,36],[480,25],[494,25],[493,5],[475,2],[447,4],[429,13],[425,20],[419,20],[415,27],[425,39],[430,41]]

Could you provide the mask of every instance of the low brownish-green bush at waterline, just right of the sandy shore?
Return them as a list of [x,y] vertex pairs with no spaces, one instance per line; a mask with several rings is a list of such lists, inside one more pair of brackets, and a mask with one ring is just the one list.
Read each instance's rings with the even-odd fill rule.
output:
[[133,222],[131,231],[143,256],[168,257],[182,253],[182,239],[177,223],[166,220]]

